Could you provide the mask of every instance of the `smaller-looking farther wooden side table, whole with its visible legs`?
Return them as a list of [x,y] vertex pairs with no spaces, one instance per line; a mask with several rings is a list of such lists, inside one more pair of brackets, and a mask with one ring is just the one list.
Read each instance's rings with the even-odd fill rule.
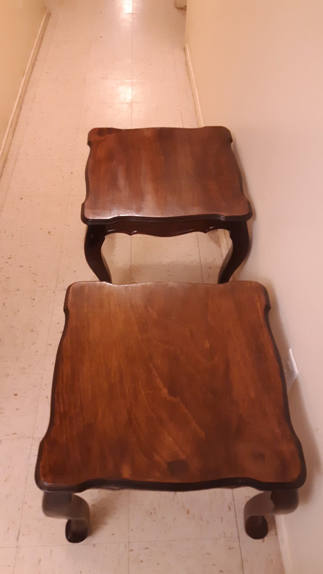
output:
[[[90,131],[86,199],[86,259],[111,282],[101,245],[114,232],[173,236],[226,229],[233,241],[219,282],[228,281],[248,253],[252,212],[226,127],[153,127]],[[99,241],[91,241],[93,234]]]

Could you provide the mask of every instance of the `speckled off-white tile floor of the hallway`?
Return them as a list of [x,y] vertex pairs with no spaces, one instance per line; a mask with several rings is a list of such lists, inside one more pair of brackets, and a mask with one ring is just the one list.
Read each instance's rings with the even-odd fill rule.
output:
[[[174,0],[51,0],[52,16],[0,180],[0,574],[282,574],[275,526],[244,534],[251,489],[87,491],[92,532],[69,545],[33,473],[48,423],[64,290],[83,254],[87,131],[197,126]],[[217,232],[110,236],[114,282],[216,282]]]

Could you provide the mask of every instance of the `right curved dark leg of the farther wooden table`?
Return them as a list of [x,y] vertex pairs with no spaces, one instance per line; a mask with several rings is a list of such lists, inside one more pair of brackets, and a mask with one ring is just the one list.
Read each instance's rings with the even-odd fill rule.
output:
[[226,283],[232,274],[247,257],[249,250],[249,234],[246,222],[232,223],[230,226],[232,247],[221,265],[218,283]]

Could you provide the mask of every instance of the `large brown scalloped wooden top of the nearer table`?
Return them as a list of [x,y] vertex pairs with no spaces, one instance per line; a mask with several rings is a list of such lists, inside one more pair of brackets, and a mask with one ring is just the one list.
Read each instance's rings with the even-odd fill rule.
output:
[[253,282],[71,285],[38,486],[301,486],[269,308]]

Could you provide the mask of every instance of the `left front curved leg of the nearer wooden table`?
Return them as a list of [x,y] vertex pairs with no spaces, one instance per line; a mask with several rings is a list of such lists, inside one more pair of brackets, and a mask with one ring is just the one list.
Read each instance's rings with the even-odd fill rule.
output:
[[89,534],[89,505],[71,492],[44,492],[43,513],[52,518],[68,518],[65,527],[68,542],[82,542]]

